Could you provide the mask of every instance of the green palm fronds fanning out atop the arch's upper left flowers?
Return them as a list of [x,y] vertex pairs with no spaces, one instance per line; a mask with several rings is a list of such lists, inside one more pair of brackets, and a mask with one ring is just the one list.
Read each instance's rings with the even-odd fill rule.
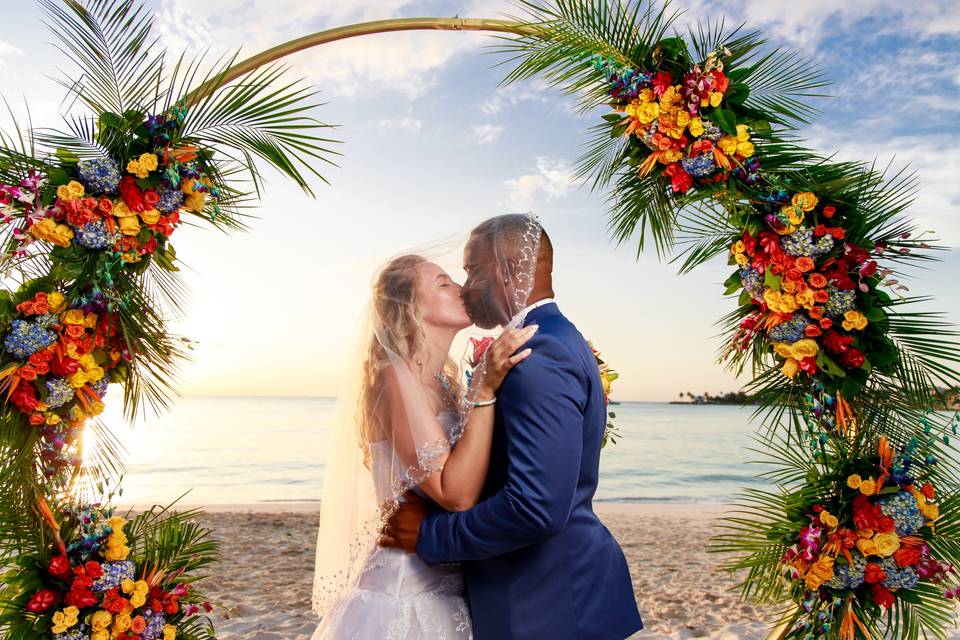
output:
[[[311,195],[311,177],[327,182],[314,165],[334,165],[332,157],[339,153],[332,147],[338,141],[318,135],[332,126],[310,115],[322,103],[315,101],[316,92],[302,80],[288,80],[286,67],[263,67],[224,84],[236,55],[212,62],[204,56],[189,61],[181,56],[168,73],[166,52],[152,32],[153,14],[142,2],[41,0],[41,6],[56,46],[75,67],[64,71],[60,83],[94,113],[141,117],[165,113],[196,87],[202,90],[189,95],[191,108],[178,142],[214,147],[229,161],[241,164],[258,194],[260,174],[253,158],[276,168]],[[120,135],[113,140],[122,147],[130,132],[115,133]],[[55,133],[47,141],[67,148],[73,145],[84,152],[78,157],[86,157],[95,153],[91,137]],[[105,150],[126,160],[122,148]]]

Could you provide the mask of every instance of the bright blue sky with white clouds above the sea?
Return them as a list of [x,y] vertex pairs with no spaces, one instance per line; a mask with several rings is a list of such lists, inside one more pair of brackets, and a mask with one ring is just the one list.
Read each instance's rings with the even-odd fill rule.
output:
[[[151,4],[172,52],[240,48],[252,55],[292,38],[365,20],[499,18],[499,0],[165,0]],[[745,21],[773,45],[814,57],[834,97],[804,131],[843,160],[909,167],[911,210],[941,244],[960,246],[960,5],[948,0],[722,0],[674,3],[677,25]],[[56,126],[62,66],[38,7],[5,11],[0,92],[35,125]],[[476,33],[408,32],[341,41],[288,59],[320,90],[314,114],[336,124],[336,167],[315,198],[272,176],[246,234],[182,227],[172,241],[190,293],[172,329],[196,341],[180,371],[186,395],[334,395],[351,370],[353,328],[377,264],[483,219],[540,216],[554,243],[555,290],[566,315],[621,373],[619,400],[721,393],[748,380],[716,363],[714,322],[725,261],[679,275],[636,242],[613,242],[602,193],[572,179],[586,130],[601,112],[531,81],[500,87],[506,67]],[[923,310],[960,321],[960,258],[915,273]]]

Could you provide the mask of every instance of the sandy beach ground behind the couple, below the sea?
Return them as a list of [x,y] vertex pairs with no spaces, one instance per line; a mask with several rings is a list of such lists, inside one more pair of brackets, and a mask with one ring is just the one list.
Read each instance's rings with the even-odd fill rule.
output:
[[[310,589],[317,503],[207,507],[204,523],[223,545],[206,592],[224,605],[222,640],[309,640],[317,623]],[[637,638],[762,639],[764,612],[731,592],[706,553],[719,505],[597,505],[630,563],[646,630]]]

